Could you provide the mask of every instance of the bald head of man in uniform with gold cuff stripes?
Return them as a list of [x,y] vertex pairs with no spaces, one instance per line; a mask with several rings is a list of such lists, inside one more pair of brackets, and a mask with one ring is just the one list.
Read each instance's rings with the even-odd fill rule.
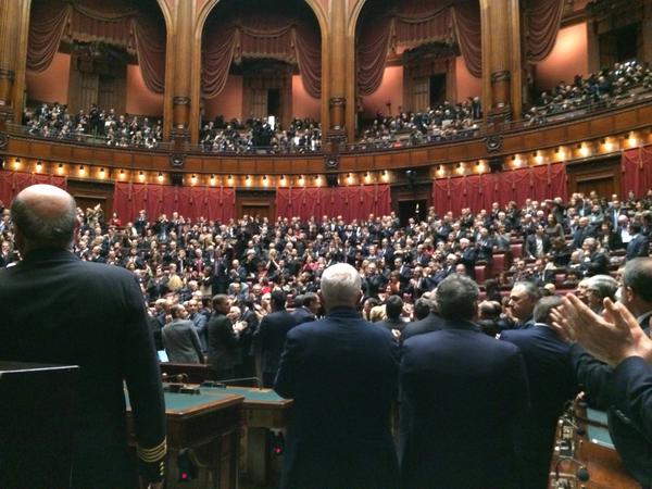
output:
[[76,226],[75,199],[58,187],[34,185],[16,196],[11,218],[16,242],[24,254],[30,249],[68,249]]

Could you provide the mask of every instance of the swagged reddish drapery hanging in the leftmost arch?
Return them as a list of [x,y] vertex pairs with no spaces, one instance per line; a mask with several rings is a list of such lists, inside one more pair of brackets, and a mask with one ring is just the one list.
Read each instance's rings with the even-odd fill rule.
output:
[[165,26],[139,12],[128,0],[40,0],[32,4],[27,68],[43,72],[59,50],[62,39],[100,41],[120,46],[138,55],[147,87],[163,93],[165,85]]

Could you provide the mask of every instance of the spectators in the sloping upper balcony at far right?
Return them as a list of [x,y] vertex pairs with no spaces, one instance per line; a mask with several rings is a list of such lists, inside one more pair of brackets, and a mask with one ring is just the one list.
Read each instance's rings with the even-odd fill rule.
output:
[[549,117],[578,109],[611,106],[625,96],[634,96],[635,89],[652,89],[649,63],[616,63],[587,77],[576,75],[573,84],[560,82],[550,92],[543,91],[525,120],[528,125],[546,124]]

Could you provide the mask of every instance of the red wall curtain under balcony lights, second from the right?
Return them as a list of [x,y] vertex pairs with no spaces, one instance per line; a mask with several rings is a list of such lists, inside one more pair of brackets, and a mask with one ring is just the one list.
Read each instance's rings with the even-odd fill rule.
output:
[[491,209],[493,202],[523,204],[525,199],[567,199],[566,166],[555,163],[487,175],[438,178],[432,183],[432,205],[438,214],[463,208]]

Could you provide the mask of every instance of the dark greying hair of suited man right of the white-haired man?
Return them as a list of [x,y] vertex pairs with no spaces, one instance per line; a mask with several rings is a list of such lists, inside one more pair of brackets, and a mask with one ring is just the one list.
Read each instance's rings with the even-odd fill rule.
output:
[[435,292],[439,314],[446,319],[473,319],[480,291],[477,284],[463,275],[449,275]]

